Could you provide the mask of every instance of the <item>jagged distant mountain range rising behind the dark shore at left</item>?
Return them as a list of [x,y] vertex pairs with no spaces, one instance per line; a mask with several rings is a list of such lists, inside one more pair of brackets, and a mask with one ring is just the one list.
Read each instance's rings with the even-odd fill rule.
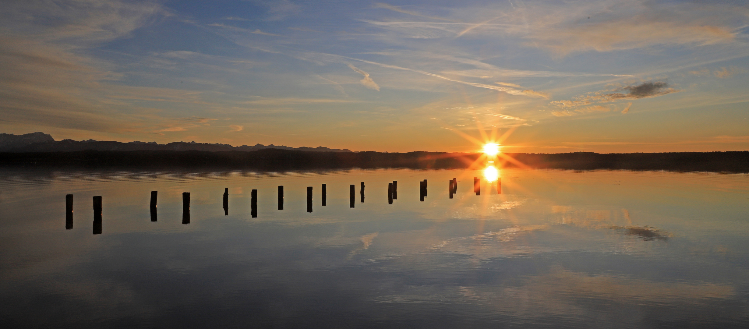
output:
[[321,152],[351,152],[348,149],[339,148],[292,148],[283,145],[262,145],[253,146],[231,146],[228,144],[208,144],[196,142],[171,142],[169,144],[158,144],[157,142],[115,142],[115,141],[97,141],[88,139],[85,141],[75,141],[73,139],[63,139],[55,141],[52,136],[46,133],[26,133],[24,135],[13,135],[12,133],[0,133],[0,152],[70,152],[70,151],[257,151],[265,148],[279,148],[282,150],[296,151],[321,151]]

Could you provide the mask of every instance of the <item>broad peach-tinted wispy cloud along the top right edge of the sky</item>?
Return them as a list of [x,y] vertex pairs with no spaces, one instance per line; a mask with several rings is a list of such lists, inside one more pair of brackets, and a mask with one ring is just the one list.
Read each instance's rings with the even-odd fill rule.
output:
[[527,40],[525,46],[548,49],[557,57],[590,50],[709,46],[736,40],[738,29],[744,26],[742,21],[746,19],[744,8],[730,4],[703,6],[700,10],[697,7],[690,3],[646,0],[565,1],[563,4],[527,1],[512,8],[455,10],[461,16],[473,13],[473,17],[484,17],[478,22],[446,22],[447,19],[438,19],[440,22],[369,19],[366,22],[411,38],[464,34],[518,37]]

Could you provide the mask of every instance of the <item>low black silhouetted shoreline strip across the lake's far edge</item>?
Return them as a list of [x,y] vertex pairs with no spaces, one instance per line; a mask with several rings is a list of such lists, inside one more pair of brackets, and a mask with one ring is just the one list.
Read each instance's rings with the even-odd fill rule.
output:
[[[525,166],[550,169],[633,169],[749,172],[749,151],[597,154],[507,154]],[[70,151],[0,152],[0,166],[239,167],[306,168],[467,168],[481,154],[408,152],[323,152],[266,148],[258,151]],[[501,160],[501,159],[500,159]],[[500,161],[501,163],[501,161]],[[503,167],[524,167],[512,162]]]

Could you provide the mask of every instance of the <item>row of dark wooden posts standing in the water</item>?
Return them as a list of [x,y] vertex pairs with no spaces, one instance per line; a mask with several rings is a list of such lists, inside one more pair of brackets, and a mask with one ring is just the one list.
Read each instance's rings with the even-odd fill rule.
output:
[[[349,208],[354,208],[355,185],[349,185]],[[427,180],[419,181],[419,201],[424,201],[427,196]],[[473,192],[477,196],[481,195],[481,178],[473,178]],[[458,178],[452,178],[449,181],[450,199],[452,195],[458,193]],[[497,193],[502,193],[500,179],[497,178]],[[151,221],[156,222],[157,217],[157,198],[158,191],[151,191]],[[392,181],[387,184],[387,203],[392,205],[392,200],[398,199],[398,181]],[[283,210],[283,185],[279,185],[278,210]],[[364,203],[364,182],[360,187],[360,200]],[[327,205],[327,184],[322,185],[322,205]],[[224,215],[229,214],[229,189],[224,189]],[[307,212],[312,212],[312,187],[307,187]],[[252,218],[258,217],[258,190],[252,190],[250,193],[250,215]],[[182,193],[182,223],[189,224],[189,192]],[[101,234],[102,230],[102,199],[101,196],[94,196],[94,234]],[[65,229],[73,229],[73,194],[65,196]]]

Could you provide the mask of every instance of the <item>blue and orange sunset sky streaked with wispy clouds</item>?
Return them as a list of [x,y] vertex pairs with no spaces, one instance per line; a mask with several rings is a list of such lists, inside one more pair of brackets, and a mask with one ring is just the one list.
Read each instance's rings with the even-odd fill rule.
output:
[[746,1],[6,0],[0,133],[745,151],[748,57]]

